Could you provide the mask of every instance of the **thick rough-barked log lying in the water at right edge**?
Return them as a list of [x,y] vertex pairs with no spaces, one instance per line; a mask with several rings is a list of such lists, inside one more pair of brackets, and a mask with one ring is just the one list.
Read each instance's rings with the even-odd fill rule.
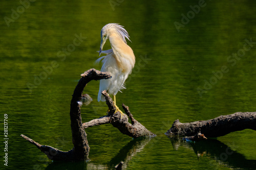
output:
[[219,137],[244,129],[256,130],[256,112],[237,112],[214,119],[183,124],[177,119],[165,134],[195,136],[201,133],[205,137]]

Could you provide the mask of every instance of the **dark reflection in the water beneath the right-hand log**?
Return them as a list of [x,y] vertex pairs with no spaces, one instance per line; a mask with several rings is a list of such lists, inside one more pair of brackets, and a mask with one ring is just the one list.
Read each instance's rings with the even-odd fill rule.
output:
[[[227,145],[217,139],[207,139],[199,142],[187,142],[177,137],[169,137],[169,139],[174,149],[177,150],[179,147],[193,149],[198,158],[206,155],[215,159],[216,164],[220,163],[223,166],[239,169],[256,169],[256,160],[247,159],[243,154],[231,150],[228,146],[231,146],[230,143]],[[211,165],[216,166],[214,164]]]

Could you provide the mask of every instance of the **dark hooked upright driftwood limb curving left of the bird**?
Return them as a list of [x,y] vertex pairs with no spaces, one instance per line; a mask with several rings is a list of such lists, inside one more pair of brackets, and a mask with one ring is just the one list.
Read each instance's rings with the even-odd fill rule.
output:
[[72,95],[71,105],[70,105],[70,120],[71,120],[71,130],[72,130],[72,142],[73,149],[68,152],[63,152],[48,145],[41,145],[34,140],[30,139],[25,135],[20,135],[24,139],[28,140],[30,143],[36,145],[36,147],[44,152],[51,160],[62,160],[62,161],[77,161],[77,160],[88,160],[90,147],[87,141],[87,135],[82,127],[81,118],[81,98],[84,87],[91,80],[109,79],[111,76],[106,72],[100,72],[95,69],[90,69],[81,75],[74,93]]

